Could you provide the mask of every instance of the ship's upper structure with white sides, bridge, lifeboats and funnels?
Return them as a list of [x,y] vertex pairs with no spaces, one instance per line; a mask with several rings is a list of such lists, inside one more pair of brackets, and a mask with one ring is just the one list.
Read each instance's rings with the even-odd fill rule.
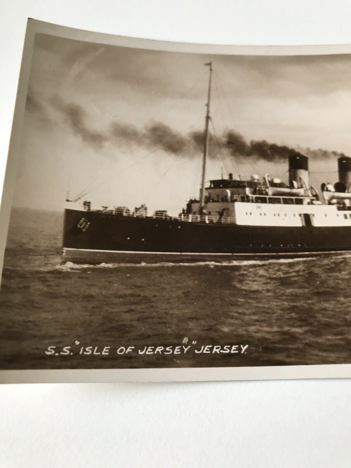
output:
[[228,179],[210,181],[203,209],[193,199],[186,212],[241,226],[351,226],[351,158],[339,158],[338,169],[339,181],[334,187],[322,184],[320,197],[309,185],[307,157],[294,154],[289,157],[288,183],[268,175],[260,180],[229,174]]

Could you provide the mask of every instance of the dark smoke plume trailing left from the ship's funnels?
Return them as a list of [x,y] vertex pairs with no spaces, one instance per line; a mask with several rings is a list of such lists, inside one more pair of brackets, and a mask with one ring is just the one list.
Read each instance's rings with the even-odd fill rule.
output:
[[[37,110],[37,103],[29,98],[29,109]],[[195,157],[204,149],[204,131],[197,130],[187,134],[176,132],[161,122],[152,122],[143,129],[130,124],[112,122],[104,132],[92,130],[86,124],[85,110],[73,103],[65,103],[59,96],[54,96],[51,105],[64,117],[72,132],[78,135],[86,144],[101,149],[106,143],[117,144],[124,142],[129,145],[147,149],[160,149],[168,154],[179,157]],[[323,149],[292,148],[286,145],[277,145],[266,140],[251,140],[248,142],[239,132],[227,130],[222,135],[209,134],[208,155],[212,159],[229,155],[240,159],[256,159],[269,162],[285,161],[291,155],[302,155],[313,159],[328,159],[344,156],[343,153]]]

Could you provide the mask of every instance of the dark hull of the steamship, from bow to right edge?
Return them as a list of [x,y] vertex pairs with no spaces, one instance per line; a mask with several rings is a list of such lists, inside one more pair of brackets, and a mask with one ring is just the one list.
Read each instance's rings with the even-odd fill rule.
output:
[[351,227],[205,224],[66,209],[63,250],[74,263],[314,256],[350,251]]

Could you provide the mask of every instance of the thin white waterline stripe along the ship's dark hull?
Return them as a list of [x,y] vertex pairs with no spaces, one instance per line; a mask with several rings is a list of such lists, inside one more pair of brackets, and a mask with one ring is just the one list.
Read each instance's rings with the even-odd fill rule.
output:
[[222,254],[222,253],[211,253],[211,252],[144,252],[136,250],[100,250],[100,249],[73,249],[72,247],[63,247],[63,251],[66,250],[77,251],[77,252],[103,252],[103,253],[114,253],[114,254],[151,254],[151,255],[225,255],[225,256],[281,256],[281,255],[321,255],[321,254],[345,254],[351,253],[351,250],[324,250],[317,252],[281,252],[281,253],[238,253],[238,254]]

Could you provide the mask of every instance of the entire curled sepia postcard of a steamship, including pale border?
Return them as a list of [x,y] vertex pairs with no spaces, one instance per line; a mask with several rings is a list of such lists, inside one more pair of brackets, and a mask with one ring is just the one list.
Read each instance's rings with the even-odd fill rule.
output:
[[0,381],[351,376],[351,47],[29,20]]

